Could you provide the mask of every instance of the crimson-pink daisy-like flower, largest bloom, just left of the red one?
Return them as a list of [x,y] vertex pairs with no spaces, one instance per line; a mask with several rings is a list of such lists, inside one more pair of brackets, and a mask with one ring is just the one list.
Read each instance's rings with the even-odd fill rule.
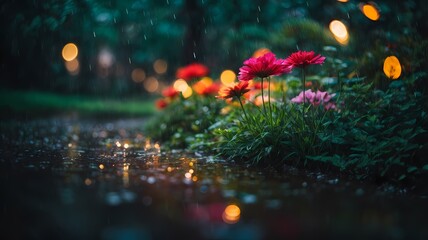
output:
[[283,59],[277,59],[275,54],[268,52],[261,57],[249,58],[244,61],[244,66],[239,69],[238,79],[249,81],[253,78],[265,78],[289,73],[291,66]]

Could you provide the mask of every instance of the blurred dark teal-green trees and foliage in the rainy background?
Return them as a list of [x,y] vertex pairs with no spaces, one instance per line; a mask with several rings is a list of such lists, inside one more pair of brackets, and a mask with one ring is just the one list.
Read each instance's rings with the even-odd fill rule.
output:
[[[398,56],[404,75],[428,68],[426,1],[376,3],[381,18],[375,22],[354,1],[5,0],[0,4],[1,86],[141,94],[142,84],[131,80],[134,68],[168,84],[174,70],[191,61],[205,63],[215,75],[226,68],[237,72],[261,47],[284,57],[297,48],[324,53],[322,47],[332,45],[343,61],[356,62],[351,72],[375,82],[388,55]],[[348,26],[348,45],[329,33],[333,19]],[[68,42],[80,50],[77,76],[68,74],[61,59]],[[114,56],[107,71],[97,59],[103,49]],[[159,58],[169,64],[161,75],[152,67]]]

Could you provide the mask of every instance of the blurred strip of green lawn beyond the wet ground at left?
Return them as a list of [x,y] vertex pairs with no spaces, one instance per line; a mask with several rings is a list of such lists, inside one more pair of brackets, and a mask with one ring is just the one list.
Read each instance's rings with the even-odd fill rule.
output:
[[155,107],[150,98],[118,99],[0,89],[0,112],[2,118],[70,112],[85,116],[143,117],[153,114]]

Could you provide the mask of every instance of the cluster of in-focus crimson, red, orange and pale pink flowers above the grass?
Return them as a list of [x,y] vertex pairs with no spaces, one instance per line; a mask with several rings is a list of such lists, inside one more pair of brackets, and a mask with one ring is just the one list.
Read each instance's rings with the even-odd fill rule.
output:
[[[239,69],[238,83],[235,83],[232,86],[223,87],[220,89],[218,98],[229,100],[229,99],[238,99],[241,101],[241,97],[246,97],[249,89],[249,81],[252,79],[259,78],[262,80],[260,89],[262,90],[262,102],[264,102],[265,97],[263,94],[263,89],[266,88],[263,83],[263,79],[267,79],[267,88],[268,91],[268,101],[272,99],[270,97],[270,77],[271,76],[280,76],[283,74],[290,73],[294,68],[301,68],[303,72],[303,87],[305,87],[305,68],[313,64],[322,64],[324,63],[325,57],[321,55],[316,55],[313,51],[297,51],[291,54],[286,59],[278,59],[275,54],[268,52],[260,57],[252,57],[244,61],[244,66]],[[266,82],[265,82],[266,83]],[[331,98],[334,95],[330,95],[327,92],[322,92],[317,90],[313,92],[312,90],[303,91],[295,98],[292,99],[293,103],[305,103],[309,102],[314,106],[323,104],[324,107],[328,109],[335,109],[334,103],[330,102]]]

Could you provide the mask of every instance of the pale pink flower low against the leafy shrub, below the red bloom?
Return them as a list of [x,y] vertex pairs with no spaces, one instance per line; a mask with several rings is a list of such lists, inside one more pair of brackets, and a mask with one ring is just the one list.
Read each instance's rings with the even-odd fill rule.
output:
[[298,96],[292,98],[291,102],[299,104],[303,102],[309,102],[313,106],[319,106],[322,104],[326,110],[329,110],[336,109],[336,105],[333,102],[330,102],[334,96],[335,94],[329,94],[328,92],[322,92],[319,90],[312,92],[311,89],[308,89],[305,92],[300,92]]

